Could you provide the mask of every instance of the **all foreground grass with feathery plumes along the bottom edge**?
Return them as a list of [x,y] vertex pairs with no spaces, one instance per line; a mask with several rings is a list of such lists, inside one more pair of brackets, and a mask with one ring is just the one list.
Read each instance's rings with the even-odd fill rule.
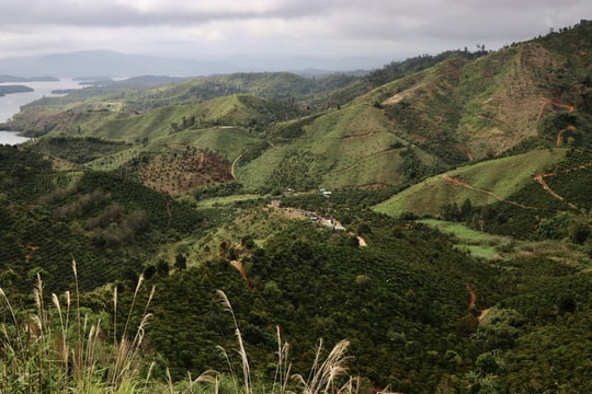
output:
[[[66,292],[62,298],[52,294],[46,303],[44,283],[37,275],[33,291],[35,308],[20,310],[14,308],[7,292],[0,288],[0,302],[3,304],[4,322],[0,326],[0,393],[340,393],[357,392],[355,379],[348,373],[346,350],[350,343],[342,340],[325,356],[322,340],[316,352],[308,378],[292,373],[288,360],[289,345],[282,340],[277,328],[277,368],[273,382],[253,378],[242,333],[238,325],[230,301],[218,290],[217,296],[224,309],[230,313],[235,325],[239,355],[238,362],[226,349],[225,355],[230,370],[224,375],[207,370],[196,379],[190,372],[184,381],[172,382],[169,371],[167,381],[158,381],[151,372],[155,363],[148,364],[143,356],[145,328],[151,318],[148,313],[155,288],[141,309],[139,323],[133,316],[138,308],[138,292],[144,278],[137,282],[127,314],[124,314],[124,328],[117,333],[119,301],[117,289],[113,291],[114,313],[109,317],[87,313],[80,305],[78,273],[72,262],[76,291]],[[104,318],[104,320],[103,320]],[[135,329],[132,329],[136,326]],[[106,332],[111,328],[112,339]]]

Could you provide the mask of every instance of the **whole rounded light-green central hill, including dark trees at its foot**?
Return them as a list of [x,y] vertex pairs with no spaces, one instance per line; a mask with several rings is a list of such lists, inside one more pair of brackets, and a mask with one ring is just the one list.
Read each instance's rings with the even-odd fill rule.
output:
[[392,185],[403,148],[377,108],[349,105],[307,121],[275,127],[273,146],[238,176],[246,185],[299,190]]

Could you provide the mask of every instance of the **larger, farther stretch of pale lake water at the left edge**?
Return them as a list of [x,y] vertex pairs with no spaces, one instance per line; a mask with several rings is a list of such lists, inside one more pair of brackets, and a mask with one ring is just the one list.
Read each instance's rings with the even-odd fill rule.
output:
[[35,100],[46,97],[56,97],[62,94],[52,94],[53,90],[58,89],[81,89],[79,81],[64,79],[55,82],[7,82],[0,85],[25,85],[34,89],[34,92],[13,93],[0,97],[0,123],[12,118],[21,111],[21,106],[34,102]]

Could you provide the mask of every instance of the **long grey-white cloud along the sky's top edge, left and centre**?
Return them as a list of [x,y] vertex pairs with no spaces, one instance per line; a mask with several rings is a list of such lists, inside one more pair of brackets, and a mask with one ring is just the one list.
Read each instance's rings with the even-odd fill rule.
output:
[[[298,19],[335,12],[345,0],[15,0],[3,7],[9,25],[152,26],[195,25],[254,19]],[[26,11],[23,8],[26,7]]]

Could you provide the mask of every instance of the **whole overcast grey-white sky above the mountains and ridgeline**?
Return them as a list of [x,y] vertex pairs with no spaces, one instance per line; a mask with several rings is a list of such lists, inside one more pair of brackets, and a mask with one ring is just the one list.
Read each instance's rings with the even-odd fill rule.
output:
[[0,58],[396,57],[497,49],[581,19],[592,19],[591,0],[0,0]]

